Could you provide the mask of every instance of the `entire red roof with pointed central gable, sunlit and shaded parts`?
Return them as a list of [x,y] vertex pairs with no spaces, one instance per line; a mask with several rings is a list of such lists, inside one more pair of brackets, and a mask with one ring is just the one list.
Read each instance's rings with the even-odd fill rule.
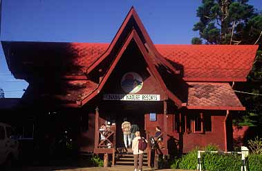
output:
[[[48,87],[42,86],[44,89],[41,94],[38,94],[39,97],[43,93],[48,96],[51,92],[51,97],[68,103],[77,101],[79,105],[84,105],[100,92],[131,39],[137,43],[149,69],[165,90],[167,97],[172,99],[178,107],[181,107],[187,99],[182,100],[177,97],[178,88],[174,85],[178,83],[176,79],[182,80],[183,84],[185,81],[245,81],[258,48],[252,45],[153,45],[134,8],[131,8],[110,44],[2,41],[2,46],[8,60],[8,67],[18,79],[34,78],[37,75],[34,74],[35,68],[40,71],[40,74],[44,71],[64,76],[66,79],[75,79],[66,81],[64,86],[60,85],[62,81],[58,81],[57,88],[47,85],[50,89],[46,94],[44,90],[48,90]],[[103,66],[106,73],[102,81],[100,83],[94,83],[94,80],[88,81],[87,79],[91,79],[88,77],[97,72],[94,69],[104,61],[108,65]],[[179,78],[176,75],[177,70],[180,71]],[[76,75],[77,77],[71,77]],[[41,88],[41,85],[36,86]],[[214,90],[206,89],[211,87]],[[30,92],[30,89],[26,92]],[[203,92],[213,93],[214,97],[213,95],[207,96],[208,98],[204,96],[202,99],[196,95],[199,92],[202,95],[205,94]],[[214,99],[216,97],[217,99]],[[233,99],[232,103],[227,99]],[[189,108],[220,106],[223,110],[230,110],[227,107],[232,110],[243,110],[241,103],[238,102],[228,84],[189,83],[187,101]]]

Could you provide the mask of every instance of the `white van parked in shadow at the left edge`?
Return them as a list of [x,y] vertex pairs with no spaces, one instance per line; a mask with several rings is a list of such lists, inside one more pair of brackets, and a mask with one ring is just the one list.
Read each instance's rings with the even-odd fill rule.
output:
[[19,143],[12,138],[12,127],[6,123],[0,123],[0,165],[12,165],[12,161],[19,156]]

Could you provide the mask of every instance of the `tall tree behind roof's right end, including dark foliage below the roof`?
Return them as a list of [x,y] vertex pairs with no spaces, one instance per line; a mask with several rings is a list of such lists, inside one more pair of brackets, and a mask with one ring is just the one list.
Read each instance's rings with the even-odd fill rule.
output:
[[[199,37],[191,41],[198,44],[262,44],[262,14],[248,0],[203,0],[196,10],[199,21],[194,31]],[[262,48],[257,51],[247,82],[237,83],[235,90],[251,94],[238,93],[239,99],[247,110],[239,112],[238,118],[244,124],[262,125]],[[238,115],[239,116],[239,115]]]

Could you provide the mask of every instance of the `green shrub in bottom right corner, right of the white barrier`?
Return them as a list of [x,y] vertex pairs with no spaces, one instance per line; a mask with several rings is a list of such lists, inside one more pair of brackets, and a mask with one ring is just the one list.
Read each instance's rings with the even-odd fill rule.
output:
[[262,171],[262,154],[250,154],[247,165],[250,171]]

